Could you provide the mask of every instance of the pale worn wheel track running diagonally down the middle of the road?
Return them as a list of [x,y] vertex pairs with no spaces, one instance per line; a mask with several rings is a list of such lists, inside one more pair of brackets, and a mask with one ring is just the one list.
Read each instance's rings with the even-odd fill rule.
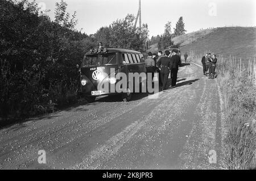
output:
[[[189,78],[188,78],[189,79]],[[190,77],[190,79],[192,79]],[[181,82],[182,83],[182,82]],[[118,152],[120,152],[119,150],[122,149],[122,147],[124,145],[138,145],[136,142],[140,141],[141,138],[138,137],[138,135],[141,137],[142,134],[139,132],[147,132],[147,134],[151,134],[151,143],[154,142],[152,139],[152,135],[155,134],[162,134],[164,131],[166,131],[166,129],[164,129],[164,127],[166,127],[166,125],[163,124],[155,124],[154,120],[166,120],[166,110],[171,110],[172,105],[170,104],[170,99],[171,102],[185,102],[185,98],[184,96],[184,91],[183,89],[173,89],[170,90],[171,94],[168,92],[163,92],[163,94],[160,95],[159,100],[157,100],[156,102],[154,102],[154,104],[152,106],[154,106],[154,108],[152,108],[152,106],[149,104],[146,107],[144,107],[143,109],[147,109],[147,110],[152,110],[148,116],[146,116],[145,118],[143,116],[137,115],[137,117],[140,117],[140,119],[138,121],[136,121],[135,123],[129,125],[128,127],[126,127],[122,132],[116,134],[115,136],[113,136],[112,138],[110,138],[110,140],[106,141],[106,143],[97,148],[96,150],[93,150],[90,154],[88,154],[88,156],[86,158],[84,158],[81,163],[79,163],[78,165],[72,167],[72,169],[109,169],[109,167],[106,168],[107,165],[116,165],[116,163],[113,163],[113,160],[118,160],[121,161],[120,159],[116,159],[116,157],[118,157],[116,154],[119,154]],[[187,89],[187,92],[193,92],[190,89]],[[195,91],[192,93],[192,95],[195,94]],[[163,97],[164,95],[164,97]],[[189,94],[187,94],[189,96]],[[171,96],[171,97],[170,97]],[[184,98],[183,101],[179,101],[180,98]],[[189,96],[189,98],[191,98],[191,100],[193,99],[193,96]],[[187,102],[185,102],[185,104],[188,104],[189,100],[186,99]],[[157,105],[157,106],[155,106]],[[181,112],[181,104],[180,106],[175,105],[175,109],[174,110],[172,108],[172,114],[167,116],[167,119],[171,119],[171,117],[173,118],[173,116],[175,115],[176,117],[180,115]],[[141,111],[139,111],[141,112]],[[136,112],[133,112],[134,114],[136,114]],[[163,121],[162,121],[163,122]],[[172,122],[172,121],[171,121]],[[166,124],[167,121],[164,121],[164,124]],[[170,121],[169,121],[170,124]],[[155,133],[157,132],[157,133]],[[154,138],[155,139],[155,138]],[[131,144],[130,142],[133,142],[133,144]],[[152,145],[151,145],[152,146]],[[125,149],[126,150],[126,149]],[[139,149],[140,150],[140,149]],[[137,150],[137,152],[139,151]],[[121,154],[123,156],[123,154]],[[112,163],[109,163],[109,160],[112,159]],[[127,158],[125,158],[126,160],[128,160]],[[130,158],[129,158],[130,160]],[[110,161],[111,162],[111,161]],[[112,169],[112,167],[111,167]],[[134,169],[134,167],[133,167]]]

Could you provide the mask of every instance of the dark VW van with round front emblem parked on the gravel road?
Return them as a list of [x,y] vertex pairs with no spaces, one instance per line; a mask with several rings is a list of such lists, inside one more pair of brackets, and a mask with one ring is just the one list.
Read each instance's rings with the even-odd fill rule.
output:
[[[118,83],[113,75],[118,73],[146,73],[146,65],[143,54],[135,50],[117,48],[98,48],[90,50],[85,54],[80,66],[81,94],[88,100],[94,102],[97,96],[122,95],[123,101],[131,99],[134,87],[129,87],[129,78],[125,90],[122,85],[119,90],[110,90]],[[140,82],[143,80],[140,79]],[[107,87],[107,88],[106,88]]]

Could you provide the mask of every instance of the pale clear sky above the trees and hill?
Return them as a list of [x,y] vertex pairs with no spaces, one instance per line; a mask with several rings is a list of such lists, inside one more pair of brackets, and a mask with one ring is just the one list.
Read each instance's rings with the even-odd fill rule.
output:
[[[36,0],[44,3],[53,20],[53,0]],[[77,11],[77,30],[95,33],[102,26],[109,26],[127,14],[137,15],[138,0],[66,0],[68,12]],[[223,26],[256,26],[255,0],[141,0],[142,23],[148,24],[150,37],[164,32],[164,24],[172,22],[172,28],[183,16],[185,30]],[[172,29],[173,31],[173,29]]]

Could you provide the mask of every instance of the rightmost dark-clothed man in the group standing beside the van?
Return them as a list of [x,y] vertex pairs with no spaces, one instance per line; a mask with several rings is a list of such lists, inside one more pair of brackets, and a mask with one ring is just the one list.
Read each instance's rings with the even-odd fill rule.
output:
[[180,56],[177,55],[177,50],[173,50],[173,56],[171,57],[171,79],[172,79],[172,84],[171,86],[176,86],[177,82],[177,72],[179,70],[179,66],[181,66],[181,60]]

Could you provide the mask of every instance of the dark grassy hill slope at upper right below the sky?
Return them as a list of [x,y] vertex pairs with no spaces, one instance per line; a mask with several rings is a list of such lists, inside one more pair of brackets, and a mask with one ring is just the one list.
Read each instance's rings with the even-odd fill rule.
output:
[[194,54],[203,54],[211,50],[215,54],[224,56],[255,57],[256,55],[256,28],[255,27],[224,27],[217,28],[199,41],[185,45],[181,52],[193,51]]

